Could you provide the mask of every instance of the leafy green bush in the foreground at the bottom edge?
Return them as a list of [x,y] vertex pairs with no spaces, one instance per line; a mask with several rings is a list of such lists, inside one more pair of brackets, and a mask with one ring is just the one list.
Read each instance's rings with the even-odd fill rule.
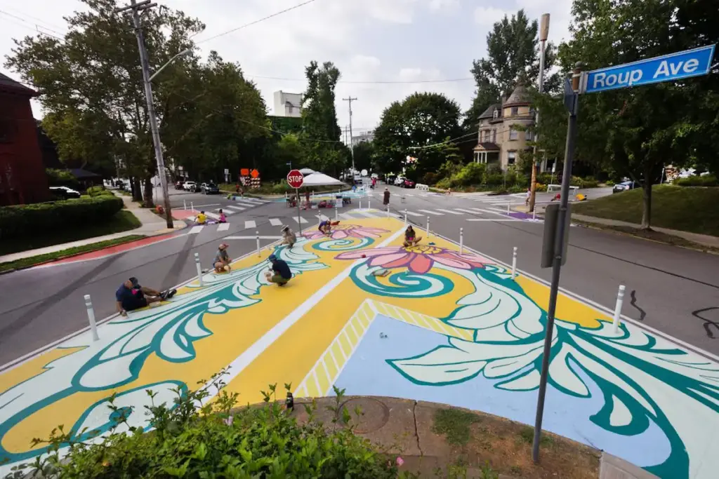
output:
[[[223,372],[224,373],[224,372]],[[222,373],[221,373],[222,374]],[[150,413],[152,432],[129,427],[132,409],[109,408],[119,425],[98,444],[70,442],[62,427],[47,441],[50,455],[38,457],[28,470],[42,470],[42,477],[58,479],[110,478],[397,478],[395,460],[375,450],[369,440],[353,433],[352,414],[342,407],[344,390],[336,389],[334,406],[328,409],[335,419],[329,427],[316,420],[316,404],[306,404],[308,422],[298,424],[288,410],[275,400],[269,386],[265,404],[233,409],[239,394],[221,390],[221,374],[214,377],[211,390],[219,390],[216,401],[197,409],[209,397],[208,389],[186,391],[178,386],[174,405],[154,404]],[[290,391],[291,386],[285,384]],[[297,404],[296,407],[302,407]],[[354,414],[362,414],[357,408]],[[142,414],[135,411],[134,414]],[[70,447],[65,460],[57,450]],[[400,477],[406,477],[402,475]]]

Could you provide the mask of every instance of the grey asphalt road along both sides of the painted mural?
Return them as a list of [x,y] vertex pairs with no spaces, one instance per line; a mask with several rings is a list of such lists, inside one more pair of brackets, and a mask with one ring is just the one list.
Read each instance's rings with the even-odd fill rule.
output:
[[[372,191],[372,207],[380,206],[384,187],[378,184]],[[398,187],[390,187],[390,192],[393,213],[401,215],[407,208],[415,213],[409,219],[420,227],[426,224],[426,215],[418,210],[440,213],[431,215],[432,231],[457,241],[459,228],[464,228],[465,245],[507,263],[517,246],[518,268],[550,279],[551,270],[539,267],[541,222],[507,221],[493,210],[506,207],[491,205],[486,197],[425,196]],[[400,202],[402,192],[407,195],[405,203]],[[539,195],[539,201],[549,197]],[[508,200],[496,198],[493,201],[497,203]],[[114,312],[114,292],[129,276],[137,276],[142,284],[155,289],[166,289],[196,274],[194,253],[200,254],[203,268],[209,267],[223,239],[230,244],[231,257],[236,258],[255,250],[256,231],[260,236],[279,236],[278,223],[298,228],[296,210],[284,203],[257,204],[238,211],[229,208],[237,208],[238,203],[222,195],[171,190],[170,199],[173,208],[182,208],[185,200],[194,203],[196,210],[232,212],[229,229],[218,231],[217,225],[207,225],[189,233],[187,228],[161,243],[105,259],[0,276],[0,365],[85,327],[84,294],[91,294],[96,317],[103,318]],[[523,203],[524,199],[513,197],[511,201]],[[303,227],[316,224],[315,214],[301,213],[307,221]],[[261,244],[273,241],[262,239]],[[571,228],[569,241],[569,259],[562,268],[564,289],[613,309],[618,285],[624,283],[623,314],[719,353],[719,256],[580,227]]]

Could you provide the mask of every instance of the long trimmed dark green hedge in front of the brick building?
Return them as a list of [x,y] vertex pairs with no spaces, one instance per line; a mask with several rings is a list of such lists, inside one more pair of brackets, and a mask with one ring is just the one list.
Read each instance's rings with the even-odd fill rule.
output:
[[99,223],[122,210],[122,199],[99,195],[79,200],[0,207],[0,238],[17,238]]

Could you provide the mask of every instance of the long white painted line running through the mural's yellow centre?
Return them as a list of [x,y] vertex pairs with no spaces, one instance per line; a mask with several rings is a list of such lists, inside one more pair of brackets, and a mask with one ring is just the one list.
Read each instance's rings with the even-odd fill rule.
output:
[[[392,243],[392,241],[395,241],[395,239],[398,238],[403,232],[403,228],[399,229],[392,236],[387,238],[382,243],[378,244],[377,248],[382,248],[383,246],[387,246],[388,244]],[[339,284],[341,284],[345,279],[347,279],[349,277],[350,271],[352,271],[355,266],[361,264],[362,261],[366,260],[357,259],[356,261],[352,261],[352,264],[347,266],[347,268],[345,268],[342,273],[338,274],[337,276],[334,276],[334,278],[332,278],[323,287],[318,289],[314,294],[312,294],[311,297],[308,297],[306,301],[300,304],[293,312],[290,312],[289,315],[285,316],[285,319],[281,320],[276,325],[274,325],[272,329],[265,332],[265,334],[262,335],[262,338],[255,341],[255,343],[253,343],[251,346],[249,346],[249,348],[244,350],[242,354],[237,356],[237,358],[232,361],[232,363],[229,363],[229,366],[227,367],[228,375],[226,378],[223,378],[224,381],[229,384],[229,382],[236,378],[239,373],[242,373],[244,368],[247,368],[247,366],[252,364],[252,362],[260,356],[260,354],[264,353],[267,348],[269,348],[270,345],[275,343],[275,341],[278,340],[278,338],[280,338],[280,336],[282,336],[287,330],[289,330],[290,327],[292,327],[304,315],[310,312],[313,307],[315,307],[322,299],[324,299],[324,297],[326,297],[327,294],[329,294],[333,289],[335,289]],[[207,391],[213,390],[213,388],[210,387],[211,384],[212,382],[210,381],[208,384],[206,384],[206,387],[204,389],[206,389]],[[212,398],[212,394],[206,396],[206,398],[203,399],[203,404],[206,404],[208,401],[211,401]]]

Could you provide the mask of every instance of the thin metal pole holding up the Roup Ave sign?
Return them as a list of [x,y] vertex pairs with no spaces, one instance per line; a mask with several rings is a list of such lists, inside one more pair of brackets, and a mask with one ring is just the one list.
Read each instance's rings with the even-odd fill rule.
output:
[[[554,314],[557,311],[557,295],[559,294],[559,274],[562,271],[562,254],[564,250],[564,228],[566,227],[569,205],[569,180],[572,177],[572,161],[574,160],[574,142],[577,136],[577,108],[579,106],[580,77],[582,64],[577,62],[572,75],[574,94],[569,97],[569,119],[567,120],[567,146],[564,150],[564,172],[562,173],[562,190],[559,197],[559,218],[557,219],[557,234],[554,242],[554,261],[551,266],[551,286],[549,287],[549,307],[546,310],[546,332],[544,336],[544,353],[541,358],[541,377],[539,378],[539,394],[537,397],[536,419],[534,421],[534,442],[532,445],[532,459],[539,462],[539,440],[541,439],[541,422],[544,416],[544,396],[546,394],[546,380],[549,374],[549,356],[551,355],[551,338],[554,333]],[[566,95],[566,93],[565,93]],[[567,104],[565,96],[565,104]]]

